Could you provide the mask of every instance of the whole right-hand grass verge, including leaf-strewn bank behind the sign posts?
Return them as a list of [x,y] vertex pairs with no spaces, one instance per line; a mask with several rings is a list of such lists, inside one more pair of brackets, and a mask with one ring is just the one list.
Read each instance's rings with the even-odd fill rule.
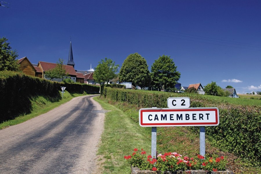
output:
[[[139,126],[137,106],[99,97],[94,99],[104,109],[111,110],[105,116],[104,132],[97,153],[98,166],[103,174],[130,173],[124,155],[131,155],[134,148],[143,148],[151,155],[151,128]],[[195,157],[199,154],[199,133],[195,132],[188,127],[157,127],[157,152],[177,152]],[[228,168],[235,173],[261,173],[261,169],[254,167],[250,161],[245,162],[240,157],[211,146],[206,137],[206,155],[213,154],[226,156]]]

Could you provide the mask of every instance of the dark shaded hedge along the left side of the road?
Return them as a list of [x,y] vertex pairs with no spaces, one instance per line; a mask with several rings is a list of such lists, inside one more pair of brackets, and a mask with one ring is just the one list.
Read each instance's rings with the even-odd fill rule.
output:
[[61,86],[70,93],[99,93],[99,86],[87,84],[64,84],[12,71],[0,72],[0,122],[30,113],[31,97],[44,95],[61,99]]

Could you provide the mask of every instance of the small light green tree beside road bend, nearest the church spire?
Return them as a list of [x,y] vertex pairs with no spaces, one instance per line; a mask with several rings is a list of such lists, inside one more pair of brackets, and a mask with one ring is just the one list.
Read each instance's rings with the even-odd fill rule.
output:
[[101,60],[93,73],[93,79],[99,83],[108,82],[110,79],[117,77],[119,65],[115,65],[115,62],[111,59],[105,58]]

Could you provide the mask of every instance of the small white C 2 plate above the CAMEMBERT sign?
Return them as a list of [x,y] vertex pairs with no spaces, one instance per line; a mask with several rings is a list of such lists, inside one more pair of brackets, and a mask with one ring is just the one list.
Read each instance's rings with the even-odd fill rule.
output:
[[189,108],[189,97],[170,97],[167,99],[168,108]]

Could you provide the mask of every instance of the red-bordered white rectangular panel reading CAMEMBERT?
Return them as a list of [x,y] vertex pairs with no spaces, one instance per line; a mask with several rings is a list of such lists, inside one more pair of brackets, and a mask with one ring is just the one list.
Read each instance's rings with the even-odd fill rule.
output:
[[218,108],[143,108],[139,110],[139,125],[158,126],[217,126]]

